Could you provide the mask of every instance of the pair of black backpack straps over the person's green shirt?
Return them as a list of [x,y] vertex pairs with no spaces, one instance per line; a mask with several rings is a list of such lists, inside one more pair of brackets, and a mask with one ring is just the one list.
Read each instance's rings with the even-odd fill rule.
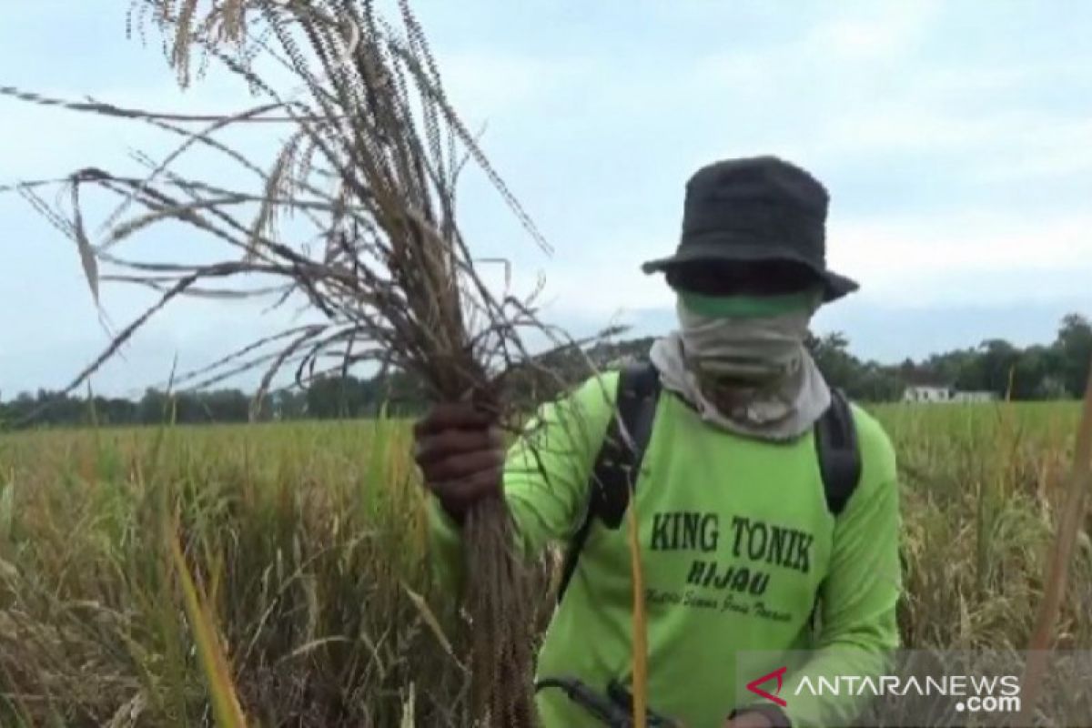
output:
[[[628,363],[619,372],[618,416],[610,418],[589,479],[591,496],[587,513],[566,553],[558,602],[577,570],[592,523],[598,518],[612,530],[621,525],[630,491],[637,482],[644,450],[652,435],[660,390],[660,372],[651,362]],[[830,407],[815,425],[815,442],[827,508],[838,517],[857,487],[862,468],[853,411],[841,390],[831,389]]]

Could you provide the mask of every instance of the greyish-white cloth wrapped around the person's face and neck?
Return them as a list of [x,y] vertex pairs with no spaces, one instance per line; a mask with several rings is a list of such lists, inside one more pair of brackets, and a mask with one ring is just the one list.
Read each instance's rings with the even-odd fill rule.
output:
[[811,291],[680,294],[679,327],[653,345],[652,363],[664,386],[709,425],[760,440],[795,440],[830,405],[830,389],[804,346],[818,305]]

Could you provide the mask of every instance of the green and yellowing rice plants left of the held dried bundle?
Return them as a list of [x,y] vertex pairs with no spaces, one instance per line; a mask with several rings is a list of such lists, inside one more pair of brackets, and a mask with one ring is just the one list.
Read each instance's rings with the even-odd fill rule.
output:
[[[0,542],[11,725],[212,725],[164,504],[256,725],[395,725],[407,709],[468,725],[460,617],[434,596],[404,425],[169,428],[157,463],[153,431],[19,438],[5,465],[26,487],[4,486]],[[112,472],[84,480],[96,446]]]

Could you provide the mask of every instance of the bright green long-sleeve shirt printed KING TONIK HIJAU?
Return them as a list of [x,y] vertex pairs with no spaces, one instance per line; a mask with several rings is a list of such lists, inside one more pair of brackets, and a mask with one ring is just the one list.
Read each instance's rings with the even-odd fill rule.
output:
[[[606,433],[617,372],[544,407],[534,434],[509,453],[505,493],[524,551],[566,541],[587,508],[589,477]],[[790,444],[704,423],[668,392],[634,501],[645,578],[649,701],[688,728],[723,725],[740,687],[781,665],[737,675],[736,655],[811,651],[804,675],[879,675],[899,646],[901,588],[895,457],[880,426],[854,418],[859,485],[835,520],[810,434]],[[537,456],[533,452],[537,452]],[[458,588],[460,533],[432,503],[441,576]],[[539,676],[575,676],[600,689],[631,677],[632,582],[625,527],[596,522],[538,656]],[[811,629],[819,600],[821,629]],[[753,658],[748,665],[753,665]],[[772,691],[773,683],[763,688]],[[782,692],[794,726],[845,725],[854,699]],[[593,725],[557,691],[538,708],[546,728]]]

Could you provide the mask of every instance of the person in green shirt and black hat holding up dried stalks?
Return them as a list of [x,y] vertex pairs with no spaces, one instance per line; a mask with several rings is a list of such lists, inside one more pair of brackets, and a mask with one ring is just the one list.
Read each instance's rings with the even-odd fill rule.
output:
[[[782,652],[805,655],[785,676],[798,684],[879,675],[899,646],[892,446],[846,405],[856,460],[839,461],[839,474],[817,454],[817,427],[836,397],[805,338],[821,305],[857,288],[827,268],[828,200],[778,158],[712,164],[687,184],[675,255],[643,266],[666,274],[678,313],[650,353],[662,394],[633,490],[649,706],[691,728],[848,725],[858,699],[779,694],[775,678],[758,685],[767,696],[740,685],[781,667]],[[589,518],[618,377],[592,378],[544,407],[534,434],[508,452],[488,416],[465,405],[436,407],[415,431],[446,573],[459,573],[460,524],[483,498],[503,494],[527,556],[586,532],[537,672],[598,690],[632,677],[627,530]],[[838,508],[831,480],[848,493]],[[743,672],[737,657],[750,652],[770,653],[756,663],[765,672]],[[538,711],[547,728],[594,725],[563,693],[541,693]]]

